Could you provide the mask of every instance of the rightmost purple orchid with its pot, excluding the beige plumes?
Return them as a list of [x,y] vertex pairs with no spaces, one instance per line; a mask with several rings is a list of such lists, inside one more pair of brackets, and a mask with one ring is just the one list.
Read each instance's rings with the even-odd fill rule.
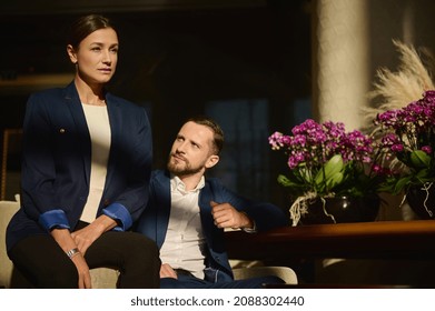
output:
[[435,91],[424,92],[402,109],[379,113],[375,127],[382,159],[390,168],[380,190],[405,193],[418,215],[434,218]]

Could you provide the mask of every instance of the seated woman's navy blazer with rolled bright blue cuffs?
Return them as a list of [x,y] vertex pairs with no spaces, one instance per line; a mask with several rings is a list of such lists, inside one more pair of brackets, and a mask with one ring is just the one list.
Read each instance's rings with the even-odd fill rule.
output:
[[[127,230],[148,201],[152,163],[146,110],[106,94],[111,129],[107,178],[97,217]],[[7,230],[8,250],[52,228],[73,229],[89,193],[91,141],[76,86],[32,94],[23,122],[21,208]]]

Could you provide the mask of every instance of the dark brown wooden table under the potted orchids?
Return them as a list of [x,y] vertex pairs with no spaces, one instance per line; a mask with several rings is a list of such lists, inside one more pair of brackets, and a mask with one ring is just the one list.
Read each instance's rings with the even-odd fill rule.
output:
[[317,224],[225,234],[229,258],[240,260],[435,260],[435,220]]

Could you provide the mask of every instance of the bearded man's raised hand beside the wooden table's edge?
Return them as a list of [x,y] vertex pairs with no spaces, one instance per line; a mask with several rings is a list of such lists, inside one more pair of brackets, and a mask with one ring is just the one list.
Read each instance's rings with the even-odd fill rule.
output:
[[229,203],[210,201],[211,214],[218,228],[253,229],[254,222],[246,213],[239,212]]

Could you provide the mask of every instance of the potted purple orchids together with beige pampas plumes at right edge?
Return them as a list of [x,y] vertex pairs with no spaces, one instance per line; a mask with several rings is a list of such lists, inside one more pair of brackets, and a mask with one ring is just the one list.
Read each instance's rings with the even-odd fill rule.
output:
[[428,50],[417,52],[413,46],[393,42],[399,53],[398,70],[378,70],[369,94],[373,107],[364,109],[366,130],[377,143],[382,165],[389,169],[380,190],[403,195],[401,207],[407,201],[421,218],[434,218],[435,83],[431,69],[435,62]]

